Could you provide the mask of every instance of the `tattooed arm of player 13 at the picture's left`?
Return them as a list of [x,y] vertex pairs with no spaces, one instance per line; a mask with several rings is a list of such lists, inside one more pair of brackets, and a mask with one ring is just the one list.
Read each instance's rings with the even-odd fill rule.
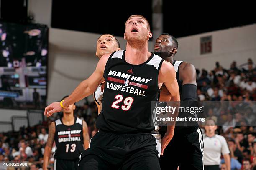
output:
[[54,143],[54,134],[55,134],[55,122],[51,122],[51,125],[49,126],[47,143],[44,148],[44,164],[43,164],[44,170],[47,170],[49,158],[51,156],[51,148]]

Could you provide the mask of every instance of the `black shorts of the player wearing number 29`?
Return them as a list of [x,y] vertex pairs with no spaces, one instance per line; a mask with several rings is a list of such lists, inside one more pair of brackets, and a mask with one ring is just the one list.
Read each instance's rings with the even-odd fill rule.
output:
[[160,170],[156,138],[99,131],[80,155],[78,170]]

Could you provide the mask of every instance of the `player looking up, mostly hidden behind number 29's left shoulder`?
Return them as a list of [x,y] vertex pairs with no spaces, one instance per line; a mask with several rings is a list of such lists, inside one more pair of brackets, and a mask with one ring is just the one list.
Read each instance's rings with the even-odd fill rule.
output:
[[[100,59],[104,54],[111,54],[114,51],[120,51],[120,44],[118,40],[111,34],[103,34],[97,40],[96,46],[96,56]],[[94,101],[98,108],[98,113],[100,114],[102,108],[102,97],[103,97],[103,87],[104,82],[102,82],[97,90],[93,93]]]

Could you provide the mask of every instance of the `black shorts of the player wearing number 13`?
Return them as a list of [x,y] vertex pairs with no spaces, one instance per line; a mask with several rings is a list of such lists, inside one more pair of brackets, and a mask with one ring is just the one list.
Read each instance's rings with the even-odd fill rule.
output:
[[54,160],[54,170],[77,170],[79,160]]

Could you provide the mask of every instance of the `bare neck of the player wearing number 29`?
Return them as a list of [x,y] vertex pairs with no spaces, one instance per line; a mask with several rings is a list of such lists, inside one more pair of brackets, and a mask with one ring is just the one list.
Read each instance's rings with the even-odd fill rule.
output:
[[148,58],[151,56],[151,53],[148,52],[148,43],[146,42],[141,48],[133,48],[131,45],[127,43],[126,51],[125,51],[125,61],[138,65],[146,62]]

